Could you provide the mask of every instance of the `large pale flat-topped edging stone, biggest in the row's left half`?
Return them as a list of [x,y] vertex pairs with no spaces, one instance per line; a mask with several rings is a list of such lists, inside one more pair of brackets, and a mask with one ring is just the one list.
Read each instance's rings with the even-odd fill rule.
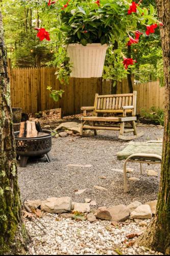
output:
[[70,197],[48,198],[41,203],[41,210],[50,214],[62,214],[71,210],[72,199]]

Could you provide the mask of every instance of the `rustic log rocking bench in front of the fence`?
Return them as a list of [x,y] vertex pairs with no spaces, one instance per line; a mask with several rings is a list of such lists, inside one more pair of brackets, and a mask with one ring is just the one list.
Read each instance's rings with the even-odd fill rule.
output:
[[[143,134],[137,134],[135,125],[136,95],[136,91],[129,94],[95,94],[94,106],[81,108],[83,117],[81,117],[80,135],[83,136],[83,130],[94,130],[94,135],[97,135],[96,130],[113,130],[120,131],[119,139],[132,140],[142,136]],[[91,110],[93,116],[87,116],[86,111]],[[107,116],[99,116],[101,114]],[[89,121],[92,122],[92,126],[85,124]],[[125,123],[129,122],[131,125],[125,126]],[[125,136],[126,133],[133,133],[133,136]]]

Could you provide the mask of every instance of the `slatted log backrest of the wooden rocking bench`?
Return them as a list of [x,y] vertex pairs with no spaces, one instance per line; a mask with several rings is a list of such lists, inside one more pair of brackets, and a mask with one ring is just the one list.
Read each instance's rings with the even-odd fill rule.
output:
[[127,112],[136,115],[136,95],[137,92],[128,94],[99,95],[95,94],[94,114],[96,113],[122,113],[122,106],[133,106]]

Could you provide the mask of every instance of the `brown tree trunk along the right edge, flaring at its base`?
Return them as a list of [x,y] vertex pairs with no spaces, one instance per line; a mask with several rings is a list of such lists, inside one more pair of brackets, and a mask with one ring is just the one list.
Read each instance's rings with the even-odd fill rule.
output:
[[165,78],[163,155],[156,215],[140,238],[140,244],[170,254],[170,2],[156,0],[156,4],[159,18],[163,22],[160,28]]

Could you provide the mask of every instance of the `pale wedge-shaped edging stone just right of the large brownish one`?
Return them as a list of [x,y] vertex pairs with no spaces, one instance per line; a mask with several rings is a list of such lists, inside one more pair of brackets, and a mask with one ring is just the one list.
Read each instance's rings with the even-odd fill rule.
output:
[[148,204],[142,204],[131,212],[131,219],[151,219],[152,210]]

